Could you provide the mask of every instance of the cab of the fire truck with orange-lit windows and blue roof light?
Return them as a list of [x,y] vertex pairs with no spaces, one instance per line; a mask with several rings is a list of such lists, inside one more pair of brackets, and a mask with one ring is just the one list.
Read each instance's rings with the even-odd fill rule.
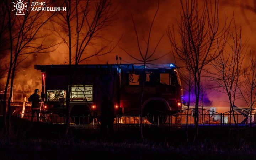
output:
[[[144,77],[144,79],[143,79]],[[132,66],[122,68],[120,105],[124,114],[149,114],[165,122],[167,113],[182,110],[183,91],[177,68],[142,68]],[[142,95],[143,92],[143,95]]]

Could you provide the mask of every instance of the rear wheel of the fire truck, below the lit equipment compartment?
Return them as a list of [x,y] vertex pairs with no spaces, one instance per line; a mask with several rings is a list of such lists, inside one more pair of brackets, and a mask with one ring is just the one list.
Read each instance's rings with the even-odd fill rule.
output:
[[93,121],[93,116],[86,105],[76,105],[71,109],[70,117],[76,125],[87,125]]

